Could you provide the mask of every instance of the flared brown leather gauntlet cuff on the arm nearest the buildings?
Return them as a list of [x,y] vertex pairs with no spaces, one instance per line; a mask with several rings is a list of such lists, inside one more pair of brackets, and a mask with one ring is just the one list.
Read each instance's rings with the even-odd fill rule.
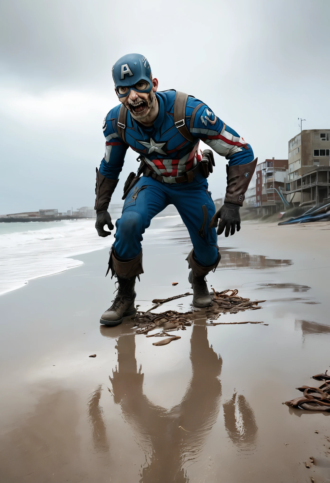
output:
[[227,165],[227,189],[225,203],[243,206],[244,195],[255,172],[258,158],[247,164]]

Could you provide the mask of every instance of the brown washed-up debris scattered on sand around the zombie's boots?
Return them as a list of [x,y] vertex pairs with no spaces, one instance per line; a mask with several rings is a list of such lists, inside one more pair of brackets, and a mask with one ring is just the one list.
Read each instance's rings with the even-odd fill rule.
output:
[[[210,307],[206,307],[205,309],[196,309],[192,307],[192,310],[189,312],[180,313],[175,310],[167,310],[163,313],[152,313],[150,312],[152,309],[159,307],[163,303],[169,302],[171,300],[175,300],[181,297],[187,297],[190,294],[189,292],[177,295],[175,297],[169,297],[164,299],[154,299],[152,303],[156,303],[154,307],[152,307],[147,312],[137,312],[134,322],[137,326],[136,334],[148,334],[151,330],[160,328],[161,332],[157,332],[156,334],[147,335],[147,337],[167,337],[168,332],[173,332],[177,330],[185,330],[186,326],[191,326],[191,321],[193,319],[192,314],[199,312],[201,314],[205,314],[205,316],[210,319],[210,324],[208,325],[218,325],[218,324],[225,324],[224,323],[214,323],[213,321],[216,320],[222,313],[238,313],[244,312],[245,310],[257,310],[261,309],[258,303],[265,302],[266,300],[250,300],[249,298],[242,298],[238,294],[238,290],[223,290],[222,292],[217,292],[212,289],[212,303]],[[228,324],[262,324],[263,322],[228,322]],[[172,338],[172,340],[174,340]],[[169,343],[169,340],[167,343]],[[165,342],[156,343],[154,342],[153,345],[165,345]]]

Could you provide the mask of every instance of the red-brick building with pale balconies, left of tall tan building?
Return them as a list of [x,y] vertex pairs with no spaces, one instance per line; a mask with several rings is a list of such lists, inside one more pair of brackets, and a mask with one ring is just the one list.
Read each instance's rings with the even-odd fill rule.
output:
[[265,159],[263,163],[256,165],[256,206],[259,209],[262,208],[263,215],[277,213],[283,209],[283,201],[278,191],[280,187],[285,191],[287,169],[287,159]]

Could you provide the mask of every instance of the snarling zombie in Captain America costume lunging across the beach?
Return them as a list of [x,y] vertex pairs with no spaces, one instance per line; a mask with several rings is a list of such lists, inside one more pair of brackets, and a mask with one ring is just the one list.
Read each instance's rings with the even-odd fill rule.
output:
[[[210,305],[205,276],[220,261],[217,234],[225,230],[225,236],[233,235],[240,229],[239,208],[257,162],[250,144],[204,102],[175,90],[157,92],[158,80],[152,78],[146,57],[123,56],[112,73],[120,104],[103,124],[105,156],[97,170],[95,201],[99,236],[109,234],[105,225],[113,229],[107,208],[129,147],[138,155],[140,167],[125,183],[124,206],[110,250],[108,270],[117,277],[119,290],[100,320],[108,326],[136,313],[134,288],[135,278],[143,273],[142,235],[168,204],[178,209],[193,243],[187,257],[193,304]],[[201,153],[200,140],[228,160],[225,202],[218,212],[207,183],[213,152]]]

